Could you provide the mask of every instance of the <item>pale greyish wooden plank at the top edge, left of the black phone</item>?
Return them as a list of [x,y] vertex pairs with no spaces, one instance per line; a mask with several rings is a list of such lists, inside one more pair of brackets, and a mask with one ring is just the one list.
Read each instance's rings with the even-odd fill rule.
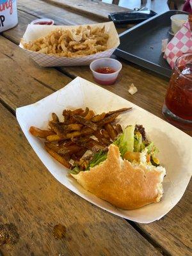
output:
[[130,9],[117,6],[116,4],[102,3],[101,1],[90,0],[42,0],[47,3],[54,3],[61,8],[67,8],[68,10],[75,10],[77,12],[86,13],[91,17],[99,17],[100,19],[108,19],[108,15],[111,12],[127,12]]

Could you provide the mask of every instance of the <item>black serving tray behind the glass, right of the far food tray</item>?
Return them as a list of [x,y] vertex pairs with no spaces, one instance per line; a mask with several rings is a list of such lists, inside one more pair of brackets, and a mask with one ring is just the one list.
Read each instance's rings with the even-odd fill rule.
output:
[[161,52],[161,40],[172,35],[170,17],[174,14],[188,14],[186,12],[171,10],[156,15],[120,34],[120,45],[115,54],[125,60],[131,61],[157,72],[163,76],[170,77],[172,70]]

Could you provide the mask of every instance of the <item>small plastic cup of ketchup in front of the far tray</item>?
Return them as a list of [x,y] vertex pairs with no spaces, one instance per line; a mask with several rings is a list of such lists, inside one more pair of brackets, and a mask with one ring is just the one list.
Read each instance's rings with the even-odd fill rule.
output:
[[122,64],[118,60],[102,58],[92,61],[90,69],[96,83],[109,85],[115,83],[118,73],[122,69]]

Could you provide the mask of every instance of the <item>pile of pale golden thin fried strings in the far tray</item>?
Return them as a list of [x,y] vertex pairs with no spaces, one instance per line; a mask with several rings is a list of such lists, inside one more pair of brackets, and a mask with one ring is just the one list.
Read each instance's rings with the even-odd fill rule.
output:
[[73,58],[106,51],[108,38],[105,26],[79,26],[77,29],[55,29],[31,42],[22,38],[21,42],[30,51]]

